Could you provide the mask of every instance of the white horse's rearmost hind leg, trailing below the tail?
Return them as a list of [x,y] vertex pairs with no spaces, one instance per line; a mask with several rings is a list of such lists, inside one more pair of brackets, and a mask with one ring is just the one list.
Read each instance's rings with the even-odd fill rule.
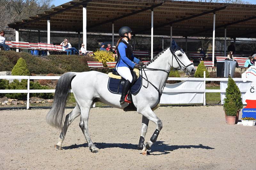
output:
[[60,133],[58,143],[55,145],[55,148],[57,150],[61,149],[61,145],[62,145],[62,142],[65,138],[66,132],[68,130],[68,126],[73,122],[73,120],[76,117],[78,117],[80,115],[80,113],[81,113],[81,111],[80,111],[78,105],[76,104],[76,107],[69,114],[67,114],[64,125],[62,127],[62,131]]

